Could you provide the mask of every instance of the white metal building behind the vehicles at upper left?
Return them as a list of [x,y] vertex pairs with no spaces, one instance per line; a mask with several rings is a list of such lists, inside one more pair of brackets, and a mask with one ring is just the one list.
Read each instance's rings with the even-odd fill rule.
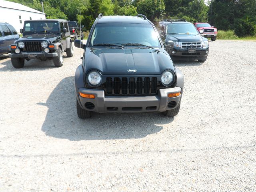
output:
[[19,3],[0,0],[0,22],[11,24],[17,32],[23,28],[25,20],[45,19],[45,14]]

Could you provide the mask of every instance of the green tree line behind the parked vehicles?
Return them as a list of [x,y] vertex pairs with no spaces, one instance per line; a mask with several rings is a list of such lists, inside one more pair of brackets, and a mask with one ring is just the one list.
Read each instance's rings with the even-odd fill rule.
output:
[[[40,0],[11,0],[42,11]],[[256,0],[43,0],[48,19],[75,20],[90,30],[103,15],[144,14],[152,22],[179,18],[208,22],[238,36],[256,35]],[[81,11],[81,16],[80,16]]]

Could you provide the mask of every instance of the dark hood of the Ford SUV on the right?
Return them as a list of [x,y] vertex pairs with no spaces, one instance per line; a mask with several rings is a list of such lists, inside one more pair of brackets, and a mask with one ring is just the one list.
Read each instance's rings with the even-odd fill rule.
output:
[[184,42],[200,42],[207,41],[206,38],[200,35],[187,35],[187,34],[166,34],[166,40],[184,41]]

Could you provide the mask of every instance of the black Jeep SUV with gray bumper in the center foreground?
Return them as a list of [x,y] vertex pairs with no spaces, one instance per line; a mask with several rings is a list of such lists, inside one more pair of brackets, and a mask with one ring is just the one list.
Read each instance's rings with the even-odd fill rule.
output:
[[92,112],[178,114],[183,75],[165,50],[173,41],[163,45],[146,16],[100,14],[87,43],[75,40],[75,46],[84,49],[75,74],[79,118]]

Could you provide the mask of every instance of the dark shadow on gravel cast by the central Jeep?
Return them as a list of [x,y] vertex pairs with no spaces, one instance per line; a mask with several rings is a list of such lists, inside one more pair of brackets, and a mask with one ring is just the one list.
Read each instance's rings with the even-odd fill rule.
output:
[[47,136],[74,141],[143,138],[162,130],[158,124],[174,120],[161,113],[94,113],[92,118],[81,120],[76,114],[74,76],[64,78],[46,103],[38,105],[48,107],[42,131]]

